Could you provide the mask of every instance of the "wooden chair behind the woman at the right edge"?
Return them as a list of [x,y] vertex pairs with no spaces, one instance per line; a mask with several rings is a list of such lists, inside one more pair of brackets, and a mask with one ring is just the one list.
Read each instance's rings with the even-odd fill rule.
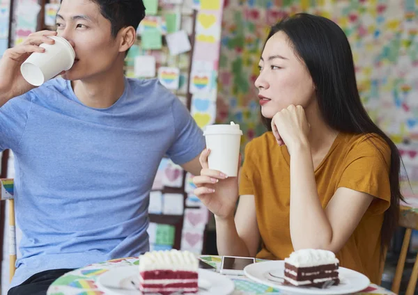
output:
[[[408,211],[409,210],[409,211]],[[414,211],[403,207],[401,216],[399,218],[399,225],[406,228],[405,236],[403,237],[403,243],[401,248],[401,255],[399,255],[398,264],[396,265],[396,272],[394,281],[392,282],[392,292],[399,294],[399,288],[401,287],[401,280],[403,269],[405,267],[406,255],[408,254],[408,248],[410,245],[412,230],[418,230],[418,214]],[[412,269],[412,274],[408,282],[405,295],[413,295],[415,293],[415,286],[417,285],[418,278],[418,254],[415,257],[415,264]]]

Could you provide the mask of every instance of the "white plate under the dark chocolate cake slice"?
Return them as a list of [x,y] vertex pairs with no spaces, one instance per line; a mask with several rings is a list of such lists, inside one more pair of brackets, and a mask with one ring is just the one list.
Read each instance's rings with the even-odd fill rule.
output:
[[[284,277],[283,260],[257,262],[254,264],[249,264],[248,266],[245,266],[244,273],[245,276],[251,278],[251,280],[255,280],[256,282],[260,282],[261,284],[268,285],[276,289],[292,292],[295,294],[351,294],[362,291],[370,285],[369,278],[364,276],[362,273],[357,273],[357,271],[345,269],[343,267],[339,267],[339,278],[341,281],[339,285],[331,286],[327,289],[281,285],[281,280],[279,278],[274,278],[273,276],[281,278]],[[271,276],[270,273],[273,276]]]

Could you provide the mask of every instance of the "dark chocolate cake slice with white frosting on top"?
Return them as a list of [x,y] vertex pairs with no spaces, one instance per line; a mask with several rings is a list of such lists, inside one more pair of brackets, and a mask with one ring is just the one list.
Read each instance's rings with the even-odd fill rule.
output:
[[284,267],[288,285],[323,288],[339,284],[339,260],[331,251],[297,250],[284,260]]

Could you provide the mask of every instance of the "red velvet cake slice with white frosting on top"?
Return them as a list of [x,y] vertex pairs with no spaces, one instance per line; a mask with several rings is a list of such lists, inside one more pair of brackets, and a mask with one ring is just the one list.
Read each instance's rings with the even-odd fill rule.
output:
[[162,295],[196,293],[199,260],[188,251],[152,251],[139,256],[139,289]]

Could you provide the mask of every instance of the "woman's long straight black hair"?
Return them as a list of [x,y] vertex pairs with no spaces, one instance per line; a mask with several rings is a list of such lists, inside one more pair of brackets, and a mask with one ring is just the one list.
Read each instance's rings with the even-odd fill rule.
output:
[[[325,122],[341,132],[378,134],[389,145],[391,200],[381,230],[381,246],[388,246],[398,223],[399,202],[403,200],[399,187],[401,156],[393,141],[373,123],[362,105],[346,34],[330,19],[306,13],[287,17],[272,26],[267,40],[279,31],[286,33],[295,54],[307,66]],[[271,119],[262,116],[262,120],[271,131]]]

